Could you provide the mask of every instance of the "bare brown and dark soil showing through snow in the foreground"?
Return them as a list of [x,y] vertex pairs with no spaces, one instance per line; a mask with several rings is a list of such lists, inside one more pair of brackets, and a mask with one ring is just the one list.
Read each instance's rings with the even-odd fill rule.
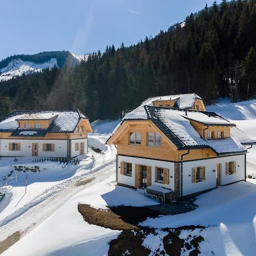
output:
[[[162,213],[146,207],[113,207],[107,210],[94,209],[90,205],[79,204],[78,210],[89,224],[110,228],[113,230],[123,230],[119,236],[109,242],[109,256],[115,255],[149,255],[150,249],[143,246],[143,240],[149,234],[156,235],[157,229],[139,226],[140,222],[146,220],[147,217],[157,217]],[[175,229],[161,229],[168,232],[163,237],[162,245],[164,250],[156,250],[153,255],[170,255],[176,256],[187,252],[189,256],[200,254],[200,242],[204,238],[200,235],[192,237],[189,234],[186,238],[181,239],[181,230],[199,229],[199,233],[204,229],[203,226],[183,226]]]

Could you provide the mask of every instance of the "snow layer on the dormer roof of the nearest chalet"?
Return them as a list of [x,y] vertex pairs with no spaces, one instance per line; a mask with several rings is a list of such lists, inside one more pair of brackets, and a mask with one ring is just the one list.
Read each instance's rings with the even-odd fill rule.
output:
[[234,123],[230,123],[225,118],[217,115],[214,112],[199,112],[199,111],[187,111],[182,114],[183,117],[188,118],[190,120],[204,123],[205,125],[230,125],[235,126]]

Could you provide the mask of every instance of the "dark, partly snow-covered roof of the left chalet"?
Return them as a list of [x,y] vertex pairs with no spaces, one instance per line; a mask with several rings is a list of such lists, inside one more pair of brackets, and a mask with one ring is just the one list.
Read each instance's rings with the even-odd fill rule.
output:
[[[12,131],[12,136],[24,136],[23,133],[28,129],[20,129],[17,120],[31,119],[51,119],[49,117],[55,117],[54,121],[48,127],[48,129],[29,129],[30,133],[26,133],[26,136],[40,136],[42,137],[46,133],[73,133],[77,124],[81,118],[86,118],[79,110],[71,111],[15,111],[0,120],[0,131]],[[34,131],[34,134],[32,134]],[[44,135],[45,136],[45,135]]]

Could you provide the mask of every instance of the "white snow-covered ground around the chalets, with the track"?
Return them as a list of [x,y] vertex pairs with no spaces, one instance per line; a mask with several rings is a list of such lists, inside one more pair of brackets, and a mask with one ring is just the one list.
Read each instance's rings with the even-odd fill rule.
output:
[[[241,130],[256,138],[253,132],[256,128],[256,101],[222,103],[209,106],[208,110],[235,120]],[[140,190],[115,186],[115,148],[106,146],[105,141],[118,122],[93,124],[94,134],[89,136],[89,145],[101,152],[90,149],[79,165],[68,164],[63,168],[63,164],[55,162],[36,162],[41,171],[28,172],[26,195],[24,178],[27,173],[18,174],[18,183],[10,187],[0,203],[0,241],[16,231],[21,232],[22,237],[3,255],[17,255],[17,251],[19,255],[106,255],[108,242],[117,238],[120,231],[87,224],[78,212],[77,204],[89,204],[96,209],[156,204],[144,197]],[[254,148],[247,159],[251,174],[256,174]],[[13,159],[2,158],[0,179],[9,174],[13,168],[11,165],[34,166],[31,160],[23,158],[21,163],[16,163]],[[75,185],[77,181],[86,180],[90,182]],[[207,228],[183,230],[180,234],[180,238],[186,241],[189,241],[189,234],[203,236],[204,241],[200,243],[202,255],[255,255],[256,205],[253,202],[256,200],[256,181],[247,181],[197,197],[195,203],[199,208],[193,212],[148,218],[141,226],[152,226],[157,229],[157,234],[144,238],[143,245],[154,255],[156,249],[163,247],[166,232],[162,228],[203,225]],[[189,250],[183,253],[188,254]]]

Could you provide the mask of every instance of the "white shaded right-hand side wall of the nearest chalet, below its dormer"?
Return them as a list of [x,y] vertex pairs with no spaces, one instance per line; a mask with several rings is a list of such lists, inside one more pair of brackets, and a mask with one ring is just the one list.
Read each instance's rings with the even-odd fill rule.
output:
[[[226,162],[230,161],[236,161],[236,173],[226,175]],[[221,164],[221,185],[245,179],[245,155],[183,162],[183,196],[216,187],[218,163]],[[199,166],[205,166],[205,180],[192,183],[192,168]]]

